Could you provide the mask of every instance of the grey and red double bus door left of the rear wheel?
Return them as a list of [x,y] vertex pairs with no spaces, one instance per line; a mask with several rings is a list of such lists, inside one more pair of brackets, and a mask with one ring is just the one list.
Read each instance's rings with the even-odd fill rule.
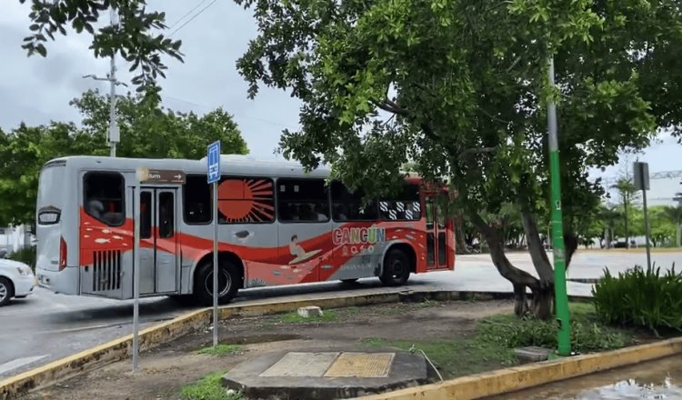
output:
[[178,291],[177,190],[140,191],[140,295]]

